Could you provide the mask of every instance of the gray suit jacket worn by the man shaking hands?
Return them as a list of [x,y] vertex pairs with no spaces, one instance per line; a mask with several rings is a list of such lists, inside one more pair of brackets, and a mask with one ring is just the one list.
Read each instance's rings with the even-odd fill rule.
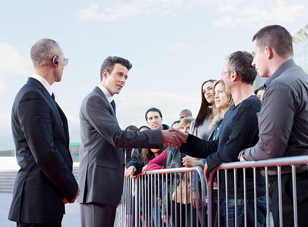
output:
[[121,130],[111,105],[98,87],[82,102],[80,133],[78,202],[117,205],[123,191],[123,148],[163,147],[161,130]]

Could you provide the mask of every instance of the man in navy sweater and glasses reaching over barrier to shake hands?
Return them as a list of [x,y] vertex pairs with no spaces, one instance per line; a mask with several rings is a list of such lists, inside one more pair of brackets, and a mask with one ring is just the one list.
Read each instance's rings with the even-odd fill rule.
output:
[[[204,174],[208,179],[210,172],[221,163],[236,162],[242,149],[255,145],[258,141],[258,118],[261,109],[261,101],[255,96],[252,85],[257,71],[251,65],[253,56],[246,51],[237,51],[227,57],[222,74],[225,86],[232,94],[235,104],[226,112],[220,126],[218,140],[202,140],[188,134],[187,142],[181,146],[181,152],[196,158],[205,158]],[[170,129],[176,130],[176,129]],[[187,136],[187,135],[186,135]],[[184,137],[186,137],[184,136]],[[247,203],[248,207],[254,207],[253,171],[246,171],[247,177]],[[237,202],[244,204],[243,170],[237,171]],[[228,204],[235,204],[234,199],[234,172],[229,171],[228,180]],[[224,171],[219,175],[220,188],[220,224],[226,226]],[[265,181],[260,171],[257,170],[257,209],[258,225],[265,222],[266,207]],[[243,203],[243,204],[242,204]],[[244,209],[238,209],[238,225],[244,226]],[[254,225],[254,215],[248,215],[248,225]],[[228,206],[229,224],[235,224],[234,205]]]

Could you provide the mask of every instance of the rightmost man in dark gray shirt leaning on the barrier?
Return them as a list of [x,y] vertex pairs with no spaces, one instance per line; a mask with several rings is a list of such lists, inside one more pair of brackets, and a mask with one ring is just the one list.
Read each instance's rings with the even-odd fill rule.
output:
[[[259,115],[259,141],[245,149],[241,161],[308,155],[308,75],[293,61],[292,36],[279,25],[266,26],[253,37],[252,65],[265,94]],[[294,226],[291,168],[281,167],[283,226]],[[270,210],[279,226],[277,169],[269,171]],[[297,221],[306,226],[307,165],[296,166]],[[282,224],[282,223],[281,223]]]

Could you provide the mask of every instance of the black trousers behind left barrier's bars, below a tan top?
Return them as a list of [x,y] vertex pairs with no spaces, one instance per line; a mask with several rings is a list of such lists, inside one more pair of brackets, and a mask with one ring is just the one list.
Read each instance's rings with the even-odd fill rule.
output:
[[[180,216],[181,211],[180,211],[180,207],[182,206],[182,218]],[[190,218],[190,203],[187,204],[187,216],[186,216],[186,205],[183,203],[177,203],[177,218],[175,216],[175,202],[172,201],[172,222],[173,222],[173,226],[177,226],[180,227],[181,226],[181,222],[182,222],[182,226],[191,226],[191,221],[192,221],[192,226],[197,226],[196,225],[196,208],[193,207],[193,215],[192,215],[192,220]],[[186,225],[187,223],[187,225]]]

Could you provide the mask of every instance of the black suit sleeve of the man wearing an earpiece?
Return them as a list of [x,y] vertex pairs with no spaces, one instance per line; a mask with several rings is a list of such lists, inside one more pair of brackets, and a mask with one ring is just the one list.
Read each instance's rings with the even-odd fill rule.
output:
[[19,102],[16,114],[35,162],[63,197],[71,201],[78,184],[55,147],[50,111],[42,94],[27,92]]

